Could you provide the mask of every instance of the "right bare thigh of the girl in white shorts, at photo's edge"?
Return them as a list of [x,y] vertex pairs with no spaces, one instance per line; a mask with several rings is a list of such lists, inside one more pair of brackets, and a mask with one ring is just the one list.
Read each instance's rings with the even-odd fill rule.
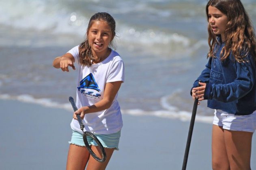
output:
[[250,170],[252,132],[224,130],[226,151],[232,170]]

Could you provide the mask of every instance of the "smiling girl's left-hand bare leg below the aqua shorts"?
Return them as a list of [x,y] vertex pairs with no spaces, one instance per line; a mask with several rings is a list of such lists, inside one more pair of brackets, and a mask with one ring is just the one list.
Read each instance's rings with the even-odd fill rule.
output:
[[90,154],[86,147],[70,144],[67,157],[67,170],[84,170],[88,162],[89,155]]

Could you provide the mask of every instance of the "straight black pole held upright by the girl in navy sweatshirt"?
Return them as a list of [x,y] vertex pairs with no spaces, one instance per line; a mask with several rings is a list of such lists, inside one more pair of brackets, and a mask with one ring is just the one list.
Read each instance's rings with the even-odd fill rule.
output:
[[190,121],[190,126],[189,126],[189,132],[188,132],[188,136],[187,136],[187,145],[186,145],[185,155],[184,155],[184,159],[183,159],[182,170],[185,170],[187,167],[187,158],[188,158],[194,123],[195,123],[195,118],[196,118],[197,105],[198,105],[198,98],[195,99],[195,101],[194,101],[194,106],[193,106],[193,111],[192,111],[191,121]]

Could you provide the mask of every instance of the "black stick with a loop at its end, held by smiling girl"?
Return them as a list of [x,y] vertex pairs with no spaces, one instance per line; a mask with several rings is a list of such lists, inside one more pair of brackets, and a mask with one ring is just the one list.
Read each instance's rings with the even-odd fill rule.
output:
[[[76,110],[78,110],[76,105],[75,105],[74,99],[72,97],[69,97],[69,102],[71,103],[74,112]],[[76,117],[77,117],[77,120],[78,120],[78,122],[80,124],[80,129],[84,132],[84,123],[82,122],[82,119],[81,119],[80,115],[76,115]],[[98,144],[99,148],[101,149],[102,159],[97,157],[97,155],[92,151],[92,149],[90,148],[90,145],[88,144],[86,136],[90,136]],[[99,162],[104,162],[106,160],[107,155],[106,155],[105,149],[102,146],[102,144],[99,141],[99,139],[93,133],[85,131],[84,134],[83,134],[83,140],[84,140],[85,147],[88,149],[90,155],[92,155],[94,157],[94,159],[96,159]]]

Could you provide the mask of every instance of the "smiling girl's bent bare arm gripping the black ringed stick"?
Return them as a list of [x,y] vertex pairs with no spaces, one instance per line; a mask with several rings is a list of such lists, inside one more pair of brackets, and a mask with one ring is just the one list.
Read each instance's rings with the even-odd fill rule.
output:
[[73,117],[77,119],[76,115],[80,115],[82,119],[84,119],[84,115],[86,113],[94,113],[99,112],[101,110],[105,110],[110,108],[122,81],[115,81],[106,83],[104,97],[101,101],[91,105],[79,108],[77,111],[74,112]]

